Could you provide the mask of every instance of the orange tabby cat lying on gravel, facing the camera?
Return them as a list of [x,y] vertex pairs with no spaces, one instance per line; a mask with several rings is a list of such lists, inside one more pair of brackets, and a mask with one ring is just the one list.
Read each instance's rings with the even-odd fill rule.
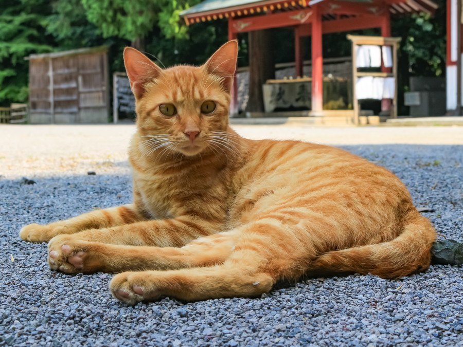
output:
[[253,141],[228,126],[238,45],[200,67],[161,69],[133,48],[133,203],[46,226],[51,269],[122,272],[119,300],[258,296],[304,273],[398,278],[430,264],[436,238],[401,181],[343,150]]

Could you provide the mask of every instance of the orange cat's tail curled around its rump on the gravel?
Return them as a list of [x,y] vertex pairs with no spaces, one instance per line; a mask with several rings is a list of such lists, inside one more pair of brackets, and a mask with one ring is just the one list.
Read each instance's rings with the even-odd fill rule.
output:
[[436,231],[431,222],[414,209],[404,220],[402,233],[394,240],[324,253],[311,272],[368,272],[382,278],[400,278],[426,270]]

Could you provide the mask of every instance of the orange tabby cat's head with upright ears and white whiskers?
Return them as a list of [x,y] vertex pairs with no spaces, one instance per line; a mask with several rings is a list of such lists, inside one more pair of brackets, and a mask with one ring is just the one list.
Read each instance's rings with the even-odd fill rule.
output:
[[213,135],[228,126],[237,53],[237,42],[229,41],[202,66],[162,69],[138,50],[126,48],[124,64],[139,133],[152,144],[164,143],[188,156],[208,148]]

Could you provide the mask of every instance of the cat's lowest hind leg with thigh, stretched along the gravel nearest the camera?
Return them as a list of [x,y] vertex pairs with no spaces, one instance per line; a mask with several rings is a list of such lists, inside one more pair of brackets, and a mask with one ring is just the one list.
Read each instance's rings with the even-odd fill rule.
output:
[[306,269],[312,250],[300,242],[293,229],[270,219],[245,225],[230,231],[233,247],[222,254],[223,262],[167,271],[122,272],[111,281],[111,293],[129,304],[162,296],[185,301],[259,296],[270,291],[277,280],[297,278]]

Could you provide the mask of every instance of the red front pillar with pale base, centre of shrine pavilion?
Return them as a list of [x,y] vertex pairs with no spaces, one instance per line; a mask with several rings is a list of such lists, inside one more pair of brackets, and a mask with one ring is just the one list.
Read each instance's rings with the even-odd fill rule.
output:
[[312,112],[323,111],[322,11],[318,4],[312,13]]

